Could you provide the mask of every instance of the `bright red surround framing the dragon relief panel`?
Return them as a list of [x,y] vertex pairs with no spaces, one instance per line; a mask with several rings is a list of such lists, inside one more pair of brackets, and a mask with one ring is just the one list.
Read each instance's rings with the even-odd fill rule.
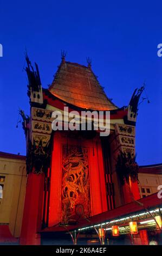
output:
[[[62,145],[67,144],[67,137],[63,132],[55,132],[54,148],[51,161],[49,227],[57,225],[61,214],[61,178],[62,178]],[[68,138],[69,145],[79,145],[78,139]],[[103,170],[102,150],[99,139],[94,142],[84,139],[82,147],[88,148],[90,200],[92,215],[100,214],[107,210],[105,175]],[[93,154],[94,147],[94,154]]]

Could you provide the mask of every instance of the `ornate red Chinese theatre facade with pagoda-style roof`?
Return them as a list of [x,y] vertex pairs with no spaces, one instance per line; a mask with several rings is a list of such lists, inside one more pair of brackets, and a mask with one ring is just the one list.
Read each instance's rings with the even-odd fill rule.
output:
[[[89,59],[83,66],[67,62],[63,53],[48,89],[42,88],[37,64],[34,70],[28,56],[26,60],[30,117],[20,111],[28,174],[20,244],[39,245],[43,233],[71,232],[94,216],[140,199],[134,147],[144,87],[134,91],[127,107],[118,108],[103,92]],[[63,116],[56,131],[54,111]],[[109,136],[95,129],[70,130],[72,115],[82,111],[103,111],[103,121],[109,111]]]

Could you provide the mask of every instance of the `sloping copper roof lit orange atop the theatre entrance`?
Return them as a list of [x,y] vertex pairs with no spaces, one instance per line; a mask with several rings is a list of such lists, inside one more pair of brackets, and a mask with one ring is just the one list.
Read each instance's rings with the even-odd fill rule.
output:
[[77,107],[94,110],[118,108],[108,99],[90,66],[62,62],[49,91]]

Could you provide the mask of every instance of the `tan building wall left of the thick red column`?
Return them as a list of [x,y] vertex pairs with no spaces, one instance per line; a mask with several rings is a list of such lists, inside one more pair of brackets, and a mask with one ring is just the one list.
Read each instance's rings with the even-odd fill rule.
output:
[[9,224],[15,237],[21,233],[26,182],[25,157],[0,153],[0,224]]

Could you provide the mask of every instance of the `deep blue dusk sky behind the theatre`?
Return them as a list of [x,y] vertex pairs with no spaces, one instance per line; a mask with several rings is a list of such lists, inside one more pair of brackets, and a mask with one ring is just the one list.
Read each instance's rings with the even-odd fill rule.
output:
[[[0,0],[0,151],[25,155],[18,108],[29,114],[24,53],[38,64],[42,86],[53,81],[66,60],[92,69],[115,105],[128,105],[135,88],[146,83],[150,100],[139,105],[136,129],[140,165],[162,162],[161,1],[4,1]],[[145,97],[145,92],[142,95]]]

